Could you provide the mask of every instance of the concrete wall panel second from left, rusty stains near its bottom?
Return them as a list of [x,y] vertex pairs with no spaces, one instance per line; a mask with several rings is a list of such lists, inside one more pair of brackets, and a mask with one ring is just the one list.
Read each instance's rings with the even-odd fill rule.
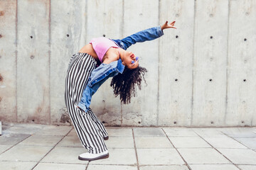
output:
[[50,124],[50,1],[18,1],[18,122]]

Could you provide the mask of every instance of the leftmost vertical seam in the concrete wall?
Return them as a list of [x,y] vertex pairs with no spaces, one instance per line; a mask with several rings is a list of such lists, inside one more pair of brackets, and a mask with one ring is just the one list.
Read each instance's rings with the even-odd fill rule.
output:
[[15,18],[16,50],[15,50],[15,67],[16,67],[16,122],[18,122],[18,0],[16,0],[16,18]]

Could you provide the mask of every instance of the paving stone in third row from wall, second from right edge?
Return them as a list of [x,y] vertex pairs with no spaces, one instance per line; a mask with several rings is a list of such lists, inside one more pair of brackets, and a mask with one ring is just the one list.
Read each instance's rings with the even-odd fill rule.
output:
[[230,164],[228,159],[212,148],[178,149],[188,164]]

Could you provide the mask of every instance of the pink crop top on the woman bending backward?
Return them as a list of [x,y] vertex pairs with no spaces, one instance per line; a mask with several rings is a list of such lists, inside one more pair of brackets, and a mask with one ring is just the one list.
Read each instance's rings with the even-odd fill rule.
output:
[[112,40],[104,37],[92,38],[90,44],[92,44],[93,50],[95,50],[100,62],[102,62],[104,55],[106,54],[107,50],[110,49],[110,47],[118,48],[118,46]]

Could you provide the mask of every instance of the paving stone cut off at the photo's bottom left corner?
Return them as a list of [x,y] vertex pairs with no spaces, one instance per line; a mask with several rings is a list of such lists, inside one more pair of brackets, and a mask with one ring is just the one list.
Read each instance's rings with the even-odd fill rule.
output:
[[1,162],[0,169],[2,170],[29,170],[36,166],[37,162]]

